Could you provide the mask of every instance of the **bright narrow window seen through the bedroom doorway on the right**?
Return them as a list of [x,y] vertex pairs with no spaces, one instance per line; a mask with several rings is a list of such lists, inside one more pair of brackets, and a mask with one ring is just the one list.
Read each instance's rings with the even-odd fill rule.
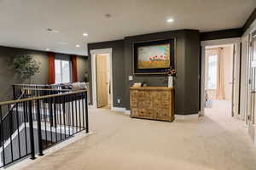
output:
[[208,89],[217,89],[218,55],[208,55]]

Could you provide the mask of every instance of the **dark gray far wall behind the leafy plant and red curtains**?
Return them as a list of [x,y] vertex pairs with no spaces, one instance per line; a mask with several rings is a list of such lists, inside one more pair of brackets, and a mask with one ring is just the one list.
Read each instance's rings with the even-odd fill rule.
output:
[[[12,84],[29,83],[29,80],[22,80],[13,69],[13,59],[16,54],[31,54],[34,59],[40,62],[40,73],[32,77],[31,83],[47,84],[48,83],[48,57],[46,52],[22,49],[9,48],[0,46],[0,101],[5,101],[13,98]],[[55,54],[56,58],[69,59],[68,54]],[[78,73],[79,82],[84,82],[84,70],[88,69],[86,57],[78,57]]]

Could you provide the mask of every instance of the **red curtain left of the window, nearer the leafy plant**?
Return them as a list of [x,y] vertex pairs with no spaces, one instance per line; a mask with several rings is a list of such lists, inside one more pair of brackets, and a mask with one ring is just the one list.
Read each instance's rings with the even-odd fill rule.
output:
[[55,83],[55,53],[48,53],[48,83]]

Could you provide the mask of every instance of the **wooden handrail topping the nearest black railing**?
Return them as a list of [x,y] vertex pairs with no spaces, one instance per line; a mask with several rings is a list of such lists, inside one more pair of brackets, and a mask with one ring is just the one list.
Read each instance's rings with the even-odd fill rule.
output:
[[77,91],[73,91],[73,92],[66,93],[66,94],[51,94],[51,95],[44,95],[44,96],[39,96],[39,97],[27,98],[27,99],[9,100],[9,101],[0,102],[0,105],[11,105],[11,104],[20,103],[20,102],[32,101],[32,100],[37,100],[37,99],[48,99],[48,98],[52,98],[52,97],[71,95],[71,94],[80,94],[80,93],[84,93],[84,92],[87,92],[87,91],[86,90],[77,90]]

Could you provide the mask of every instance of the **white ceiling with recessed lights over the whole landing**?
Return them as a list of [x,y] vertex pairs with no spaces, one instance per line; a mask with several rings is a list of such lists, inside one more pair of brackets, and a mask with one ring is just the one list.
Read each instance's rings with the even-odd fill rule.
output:
[[[89,42],[177,29],[241,27],[255,7],[255,0],[0,0],[0,45],[87,54]],[[175,21],[167,24],[168,18]],[[88,37],[82,37],[84,31]]]

